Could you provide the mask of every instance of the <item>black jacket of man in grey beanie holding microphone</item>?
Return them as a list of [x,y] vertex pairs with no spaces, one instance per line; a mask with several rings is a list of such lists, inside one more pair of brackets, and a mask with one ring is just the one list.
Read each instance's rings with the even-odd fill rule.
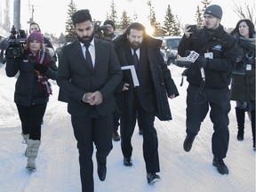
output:
[[[210,89],[226,89],[230,84],[232,70],[236,62],[236,39],[229,36],[220,25],[212,35],[206,28],[198,29],[189,38],[182,37],[178,53],[186,56],[186,51],[195,51],[204,57],[204,53],[212,52],[213,59],[208,60],[204,68],[205,87]],[[192,63],[186,72],[189,84],[200,86],[202,76],[197,63]]]

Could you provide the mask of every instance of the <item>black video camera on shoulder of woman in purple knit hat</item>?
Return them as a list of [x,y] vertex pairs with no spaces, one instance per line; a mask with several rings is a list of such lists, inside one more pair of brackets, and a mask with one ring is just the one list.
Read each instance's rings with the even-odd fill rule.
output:
[[16,30],[16,28],[12,26],[11,35],[6,39],[7,41],[3,40],[3,44],[7,47],[5,50],[5,56],[7,58],[21,57],[24,51],[24,44],[26,44],[26,38],[27,35],[25,30]]

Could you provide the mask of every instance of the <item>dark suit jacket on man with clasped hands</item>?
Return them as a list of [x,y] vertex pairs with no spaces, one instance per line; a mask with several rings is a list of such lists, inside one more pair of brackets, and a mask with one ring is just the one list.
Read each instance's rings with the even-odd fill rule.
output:
[[97,38],[94,41],[94,68],[84,59],[79,41],[68,44],[62,50],[57,84],[60,94],[68,95],[68,113],[73,116],[85,116],[92,108],[82,101],[85,92],[100,91],[103,95],[102,103],[93,107],[100,116],[106,116],[115,109],[114,90],[122,79],[120,64],[112,43]]

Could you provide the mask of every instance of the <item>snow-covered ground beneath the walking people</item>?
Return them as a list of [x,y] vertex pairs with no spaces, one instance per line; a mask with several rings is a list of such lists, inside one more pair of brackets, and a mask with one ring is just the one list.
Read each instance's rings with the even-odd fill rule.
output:
[[[189,153],[182,148],[185,139],[186,88],[180,87],[182,68],[170,66],[180,96],[170,100],[173,120],[156,119],[162,180],[149,186],[142,156],[142,137],[135,129],[132,138],[132,167],[123,165],[120,141],[113,141],[108,156],[107,179],[98,178],[94,161],[95,192],[253,192],[255,191],[255,152],[252,130],[246,116],[244,141],[236,140],[235,106],[232,102],[230,142],[225,163],[229,174],[220,175],[212,166],[212,123],[207,116]],[[185,79],[184,79],[185,80]],[[26,148],[20,135],[20,120],[13,102],[16,79],[5,76],[0,64],[0,191],[1,192],[79,192],[81,191],[76,140],[67,113],[67,104],[57,100],[59,87],[52,82],[53,95],[46,109],[42,144],[36,158],[36,172],[26,170]]]

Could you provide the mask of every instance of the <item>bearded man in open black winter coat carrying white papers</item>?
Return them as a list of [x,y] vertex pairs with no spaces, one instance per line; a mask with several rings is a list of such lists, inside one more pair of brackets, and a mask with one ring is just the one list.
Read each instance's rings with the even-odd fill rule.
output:
[[[123,70],[123,81],[116,88],[116,103],[121,111],[121,148],[124,165],[132,166],[132,133],[136,118],[143,127],[143,156],[148,184],[160,180],[158,140],[154,127],[155,116],[171,120],[167,96],[179,95],[170,70],[160,53],[161,40],[148,36],[140,23],[132,23],[123,35],[114,41],[122,68],[135,68],[139,85],[133,84],[131,73]],[[136,86],[135,86],[136,85]]]

